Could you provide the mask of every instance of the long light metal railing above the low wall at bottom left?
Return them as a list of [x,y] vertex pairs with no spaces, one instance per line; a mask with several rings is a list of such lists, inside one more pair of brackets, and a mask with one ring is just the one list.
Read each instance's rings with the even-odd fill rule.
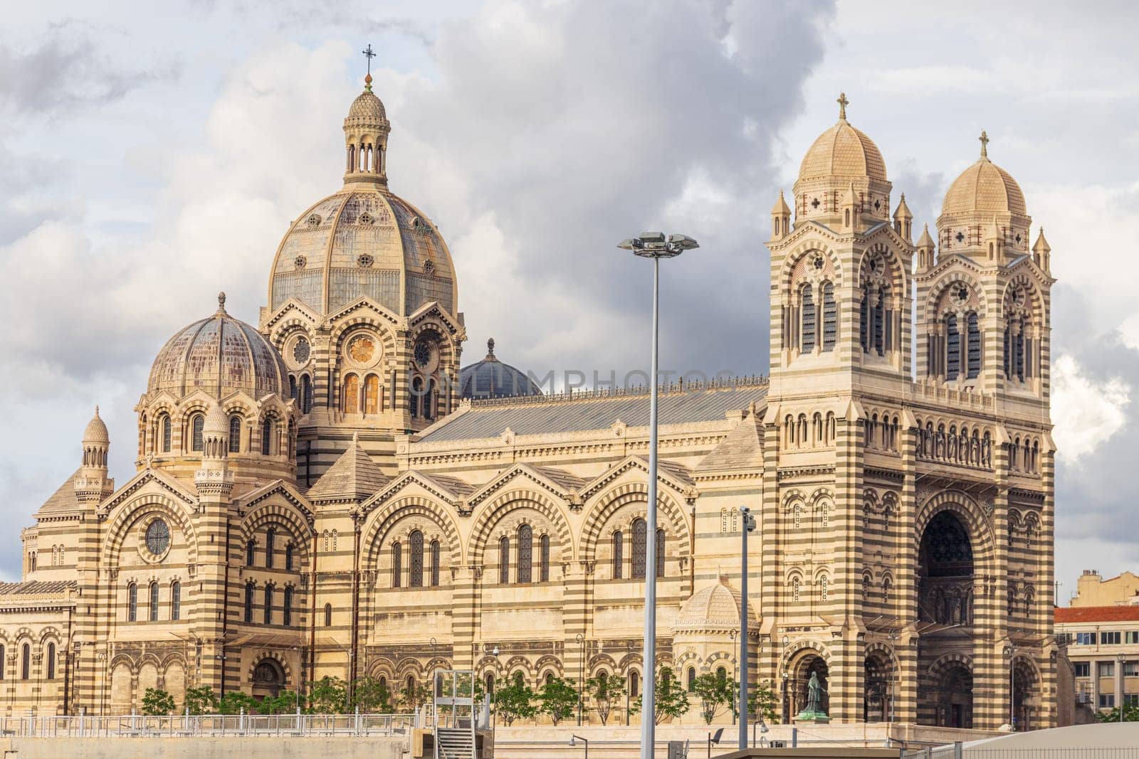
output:
[[416,715],[174,715],[2,717],[0,734],[21,737],[190,737],[197,735],[410,735]]

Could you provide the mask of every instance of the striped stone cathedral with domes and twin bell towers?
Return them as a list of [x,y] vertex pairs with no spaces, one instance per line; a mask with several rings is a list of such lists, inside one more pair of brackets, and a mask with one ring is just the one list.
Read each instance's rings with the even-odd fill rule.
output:
[[259,323],[220,296],[170,338],[134,473],[110,478],[96,411],[22,533],[0,710],[437,668],[634,699],[653,576],[659,662],[735,677],[747,505],[743,635],[782,720],[817,675],[836,724],[1054,725],[1048,242],[984,134],[915,240],[838,102],[771,212],[770,377],[662,388],[649,535],[647,391],[542,394],[493,341],[461,368],[456,265],[388,188],[367,77],[343,187],[288,228]]

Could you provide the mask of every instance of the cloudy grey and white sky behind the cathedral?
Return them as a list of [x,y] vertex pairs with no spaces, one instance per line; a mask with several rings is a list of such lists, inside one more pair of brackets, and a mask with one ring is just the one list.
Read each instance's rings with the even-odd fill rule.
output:
[[[1052,7],[1055,6],[1055,7]],[[636,368],[644,229],[663,364],[767,371],[768,211],[850,97],[917,222],[990,156],[1052,245],[1060,597],[1139,570],[1133,3],[50,2],[0,30],[0,577],[98,403],[133,471],[150,360],[219,290],[256,322],[281,234],[342,172],[371,43],[392,189],[440,225],[478,357]]]

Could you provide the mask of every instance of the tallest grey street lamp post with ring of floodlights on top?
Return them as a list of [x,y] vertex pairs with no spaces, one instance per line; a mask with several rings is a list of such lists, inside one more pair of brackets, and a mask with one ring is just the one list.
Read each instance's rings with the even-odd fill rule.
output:
[[685,250],[698,248],[693,238],[685,234],[645,232],[617,246],[632,250],[634,255],[653,259],[653,348],[649,369],[648,405],[648,508],[645,518],[645,690],[641,713],[641,759],[653,759],[656,745],[656,447],[657,447],[657,347],[659,335],[661,258],[675,258]]

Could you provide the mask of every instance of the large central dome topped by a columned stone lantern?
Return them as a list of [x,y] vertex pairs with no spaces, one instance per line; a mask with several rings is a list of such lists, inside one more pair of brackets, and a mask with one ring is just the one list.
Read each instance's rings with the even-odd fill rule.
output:
[[454,264],[439,230],[387,189],[384,104],[370,76],[344,119],[344,187],[308,208],[277,248],[269,310],[295,298],[321,315],[366,296],[399,315],[458,308]]

